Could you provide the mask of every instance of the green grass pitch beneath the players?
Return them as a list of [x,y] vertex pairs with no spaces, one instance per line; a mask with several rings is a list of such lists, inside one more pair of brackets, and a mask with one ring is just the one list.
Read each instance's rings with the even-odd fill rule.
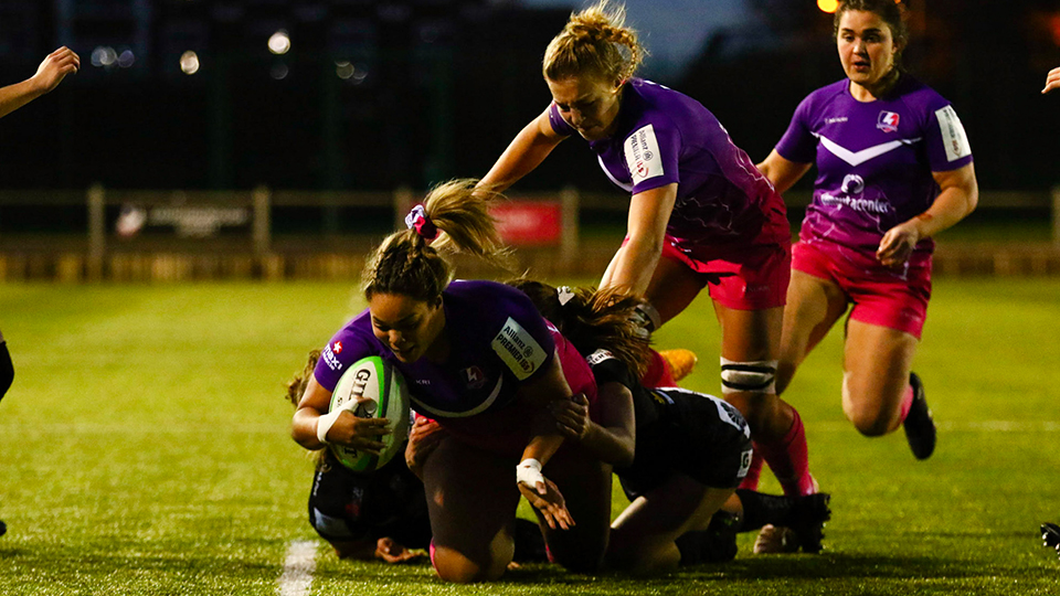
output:
[[[1037,535],[1060,520],[1058,297],[1060,280],[936,281],[916,359],[940,422],[926,462],[901,433],[845,422],[841,338],[825,340],[786,395],[834,496],[819,556],[754,556],[749,534],[729,564],[656,578],[530,565],[463,587],[426,565],[337,561],[306,523],[311,464],[283,384],[360,308],[351,286],[0,286],[17,368],[0,594],[276,594],[298,540],[320,544],[312,594],[1058,594]],[[707,300],[657,342],[699,352],[687,385],[717,391]]]

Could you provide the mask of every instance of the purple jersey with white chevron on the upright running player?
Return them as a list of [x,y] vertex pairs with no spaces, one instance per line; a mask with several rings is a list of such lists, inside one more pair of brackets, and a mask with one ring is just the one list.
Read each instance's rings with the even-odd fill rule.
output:
[[[939,185],[931,173],[972,162],[950,102],[908,75],[890,97],[869,103],[850,95],[846,78],[815,91],[795,109],[776,152],[817,164],[799,238],[873,260],[888,230],[934,202]],[[916,259],[930,258],[933,248],[934,241],[921,240]]]

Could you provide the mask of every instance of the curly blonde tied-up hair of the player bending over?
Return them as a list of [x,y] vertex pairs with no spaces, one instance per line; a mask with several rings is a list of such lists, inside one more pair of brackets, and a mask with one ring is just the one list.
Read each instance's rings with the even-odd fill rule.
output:
[[611,7],[601,0],[571,14],[566,26],[544,51],[542,74],[549,81],[593,76],[626,81],[647,54],[636,31],[625,26],[624,4]]

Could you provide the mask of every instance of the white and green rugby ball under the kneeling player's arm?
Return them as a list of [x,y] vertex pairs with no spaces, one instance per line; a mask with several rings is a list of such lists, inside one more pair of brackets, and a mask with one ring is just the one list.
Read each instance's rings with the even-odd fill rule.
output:
[[409,390],[401,373],[380,356],[357,361],[335,385],[328,412],[349,409],[361,418],[386,418],[391,433],[380,437],[385,447],[375,456],[346,445],[328,447],[353,471],[382,468],[404,448],[409,438]]

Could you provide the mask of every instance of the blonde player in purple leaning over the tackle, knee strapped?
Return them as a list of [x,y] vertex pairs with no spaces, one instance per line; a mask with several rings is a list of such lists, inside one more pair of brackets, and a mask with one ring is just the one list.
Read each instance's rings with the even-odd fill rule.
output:
[[746,418],[784,492],[813,493],[802,421],[774,391],[791,276],[784,202],[707,108],[634,76],[644,50],[623,21],[624,9],[606,2],[571,15],[545,50],[553,102],[481,184],[504,190],[568,137],[589,141],[604,173],[630,194],[627,238],[601,289],[645,297],[654,329],[708,288],[722,330],[725,400]]

